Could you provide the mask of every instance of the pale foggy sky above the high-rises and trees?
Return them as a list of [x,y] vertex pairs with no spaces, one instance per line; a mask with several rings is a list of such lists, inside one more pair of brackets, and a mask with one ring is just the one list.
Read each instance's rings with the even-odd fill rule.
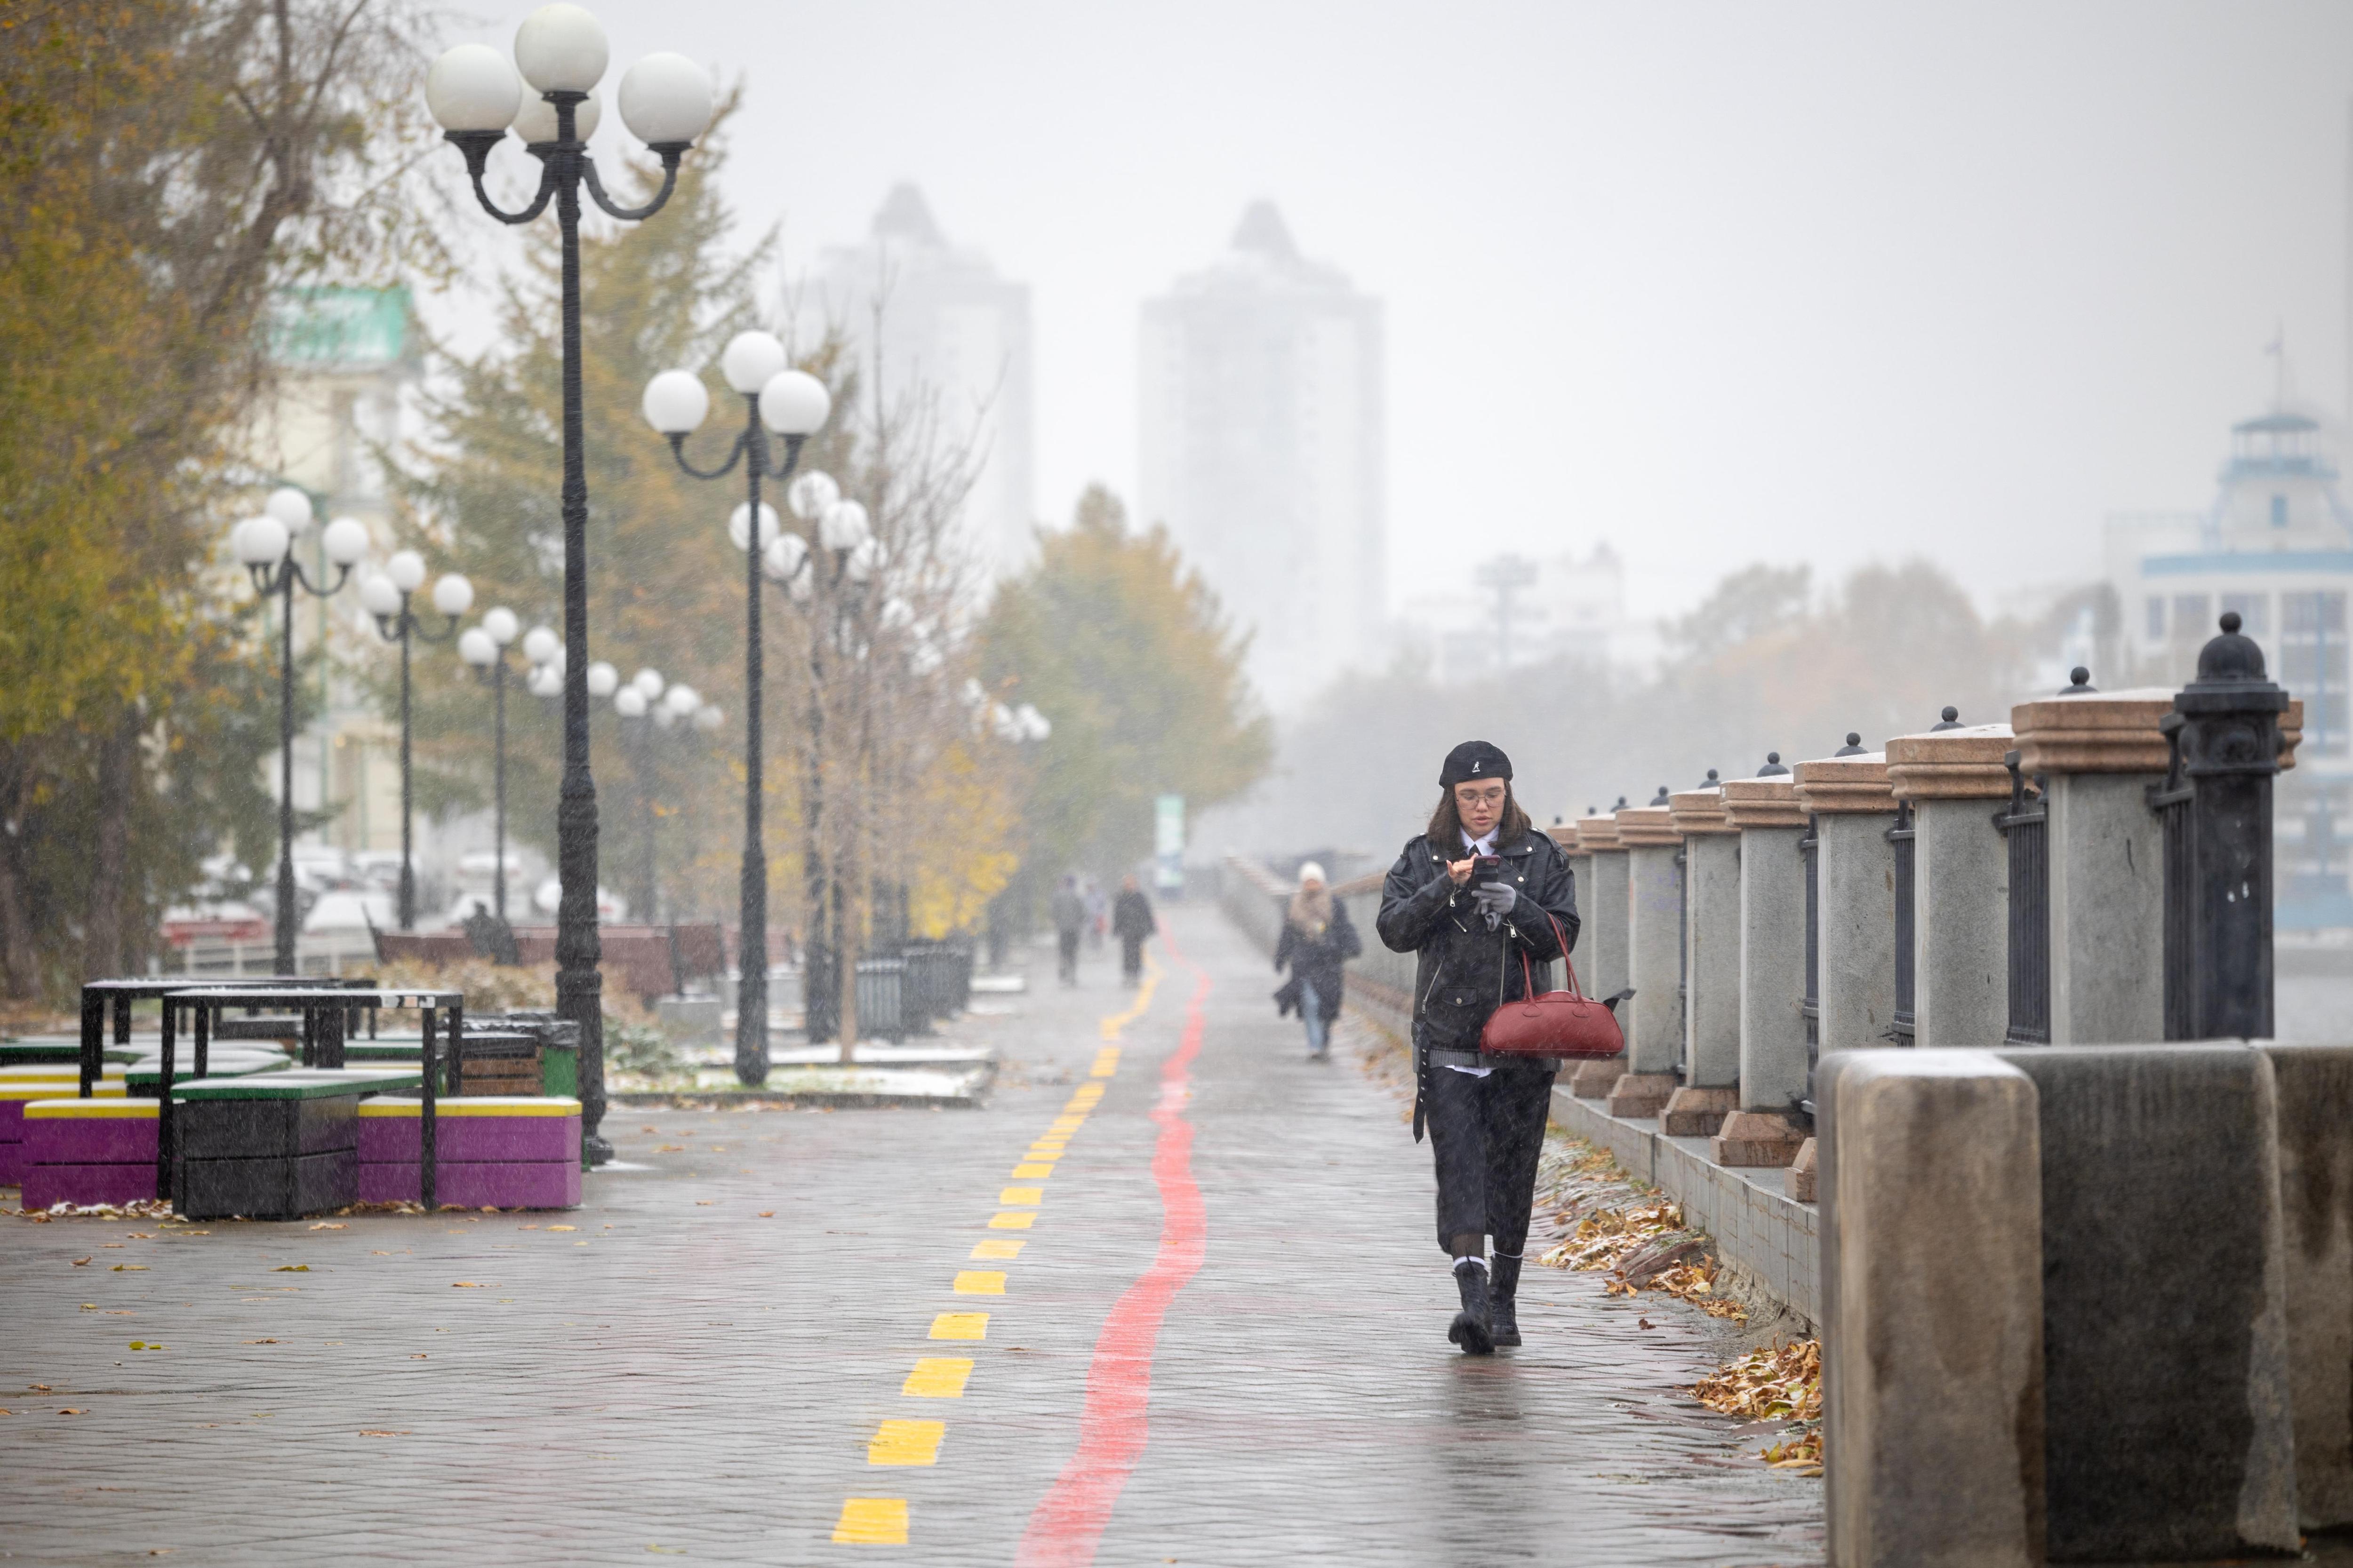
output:
[[1388,303],[1393,592],[1607,538],[1638,614],[1913,552],[1998,604],[2207,503],[2278,322],[2346,400],[2341,5],[593,9],[607,94],[744,78],[725,188],[791,270],[913,179],[1033,287],[1056,522],[1134,494],[1136,306],[1257,195]]

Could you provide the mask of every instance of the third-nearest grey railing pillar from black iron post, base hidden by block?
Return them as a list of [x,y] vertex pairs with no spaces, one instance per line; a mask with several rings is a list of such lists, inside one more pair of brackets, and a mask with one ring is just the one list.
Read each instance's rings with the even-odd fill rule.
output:
[[[1847,736],[1847,745],[1857,745]],[[1798,764],[1798,804],[1814,816],[1821,1051],[1885,1046],[1897,1016],[1897,797],[1885,752]]]

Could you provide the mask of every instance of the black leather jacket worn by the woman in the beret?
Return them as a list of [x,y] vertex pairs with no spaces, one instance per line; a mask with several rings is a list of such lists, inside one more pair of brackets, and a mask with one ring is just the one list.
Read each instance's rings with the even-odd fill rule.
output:
[[1527,1058],[1482,1058],[1478,1037],[1494,1009],[1527,994],[1522,954],[1532,964],[1537,992],[1553,990],[1551,959],[1562,957],[1553,922],[1560,922],[1560,938],[1577,947],[1577,872],[1560,844],[1541,830],[1529,827],[1520,839],[1497,844],[1504,877],[1518,889],[1520,903],[1489,931],[1471,889],[1457,889],[1447,879],[1447,858],[1461,860],[1464,853],[1461,846],[1438,846],[1419,835],[1407,839],[1381,884],[1381,914],[1374,924],[1391,952],[1419,954],[1417,1056],[1440,1067],[1529,1065]]

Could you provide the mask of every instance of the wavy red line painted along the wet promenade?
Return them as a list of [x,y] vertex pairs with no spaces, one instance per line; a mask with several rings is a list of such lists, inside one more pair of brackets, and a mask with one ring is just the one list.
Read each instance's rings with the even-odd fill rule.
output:
[[1193,1081],[1193,1058],[1200,1056],[1200,1004],[1209,997],[1209,971],[1186,959],[1167,931],[1160,940],[1169,957],[1195,976],[1193,999],[1184,1013],[1184,1039],[1160,1065],[1160,1103],[1153,1107],[1153,1121],[1160,1124],[1153,1145],[1160,1251],[1104,1319],[1104,1333],[1094,1340],[1094,1363],[1087,1368],[1078,1453],[1031,1514],[1021,1549],[1014,1554],[1019,1568],[1087,1568],[1094,1561],[1094,1547],[1111,1523],[1111,1507],[1144,1458],[1144,1439],[1151,1436],[1148,1408],[1160,1319],[1176,1291],[1200,1272],[1209,1237],[1209,1218],[1193,1182],[1193,1124],[1184,1119],[1186,1084]]

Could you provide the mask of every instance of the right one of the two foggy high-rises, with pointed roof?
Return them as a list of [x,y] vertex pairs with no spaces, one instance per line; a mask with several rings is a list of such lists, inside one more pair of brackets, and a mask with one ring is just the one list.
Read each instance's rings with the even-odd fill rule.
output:
[[1381,301],[1304,261],[1273,202],[1144,306],[1141,512],[1252,632],[1249,675],[1297,705],[1381,637]]

